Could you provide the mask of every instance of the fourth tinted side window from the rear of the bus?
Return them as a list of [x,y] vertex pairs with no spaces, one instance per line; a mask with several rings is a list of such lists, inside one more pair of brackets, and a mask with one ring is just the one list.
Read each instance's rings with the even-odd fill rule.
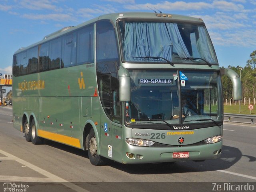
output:
[[39,72],[49,70],[49,43],[39,46]]

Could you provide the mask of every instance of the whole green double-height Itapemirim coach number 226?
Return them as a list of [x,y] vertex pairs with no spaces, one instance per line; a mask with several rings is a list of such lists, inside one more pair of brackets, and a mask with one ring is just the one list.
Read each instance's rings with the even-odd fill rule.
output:
[[220,69],[202,19],[106,14],[14,53],[14,128],[33,144],[87,150],[93,165],[215,159],[222,74],[240,100],[240,78]]

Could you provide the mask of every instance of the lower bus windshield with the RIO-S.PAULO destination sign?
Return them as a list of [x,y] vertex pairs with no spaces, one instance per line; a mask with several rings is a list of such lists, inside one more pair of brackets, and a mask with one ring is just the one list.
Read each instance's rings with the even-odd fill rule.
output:
[[132,70],[130,77],[131,100],[126,102],[125,113],[128,124],[222,121],[217,72]]

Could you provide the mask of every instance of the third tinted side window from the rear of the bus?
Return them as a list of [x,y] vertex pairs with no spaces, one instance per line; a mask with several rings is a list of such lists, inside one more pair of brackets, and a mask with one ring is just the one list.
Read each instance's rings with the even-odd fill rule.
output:
[[28,74],[38,72],[38,47],[28,50]]

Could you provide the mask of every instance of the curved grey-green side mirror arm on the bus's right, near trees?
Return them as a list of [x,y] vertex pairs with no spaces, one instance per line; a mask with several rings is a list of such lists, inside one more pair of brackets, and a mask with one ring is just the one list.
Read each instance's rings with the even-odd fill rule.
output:
[[234,100],[242,100],[242,83],[239,75],[230,68],[221,68],[221,75],[227,75],[233,85]]

